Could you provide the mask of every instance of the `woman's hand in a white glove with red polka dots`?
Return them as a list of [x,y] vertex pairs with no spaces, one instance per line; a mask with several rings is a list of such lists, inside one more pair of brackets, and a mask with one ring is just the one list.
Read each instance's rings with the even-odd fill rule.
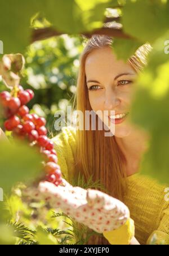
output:
[[37,188],[26,189],[24,195],[46,200],[52,208],[61,208],[65,214],[98,233],[118,229],[130,217],[125,204],[99,190],[73,187],[65,180],[63,184],[40,182]]

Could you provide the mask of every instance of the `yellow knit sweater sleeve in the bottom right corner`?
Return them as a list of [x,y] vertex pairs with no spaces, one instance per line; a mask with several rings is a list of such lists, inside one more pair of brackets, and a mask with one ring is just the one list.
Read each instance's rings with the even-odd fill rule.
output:
[[147,244],[169,245],[169,203],[165,202],[159,227],[148,238]]

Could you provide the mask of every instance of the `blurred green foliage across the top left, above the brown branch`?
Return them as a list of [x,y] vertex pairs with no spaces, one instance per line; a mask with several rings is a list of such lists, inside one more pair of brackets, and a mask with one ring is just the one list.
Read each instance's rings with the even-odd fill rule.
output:
[[[112,0],[1,1],[0,30],[4,53],[23,53],[31,36],[30,20],[40,12],[58,31],[81,33],[100,28]],[[16,7],[17,6],[17,7]]]

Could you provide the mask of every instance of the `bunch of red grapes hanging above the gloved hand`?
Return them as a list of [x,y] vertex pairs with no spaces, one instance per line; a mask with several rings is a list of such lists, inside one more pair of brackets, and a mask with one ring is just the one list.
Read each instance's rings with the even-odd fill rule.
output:
[[7,118],[5,129],[12,131],[12,135],[17,138],[29,140],[32,146],[39,146],[39,151],[45,157],[46,180],[58,186],[62,182],[61,170],[57,164],[54,143],[46,136],[46,120],[37,114],[30,114],[26,106],[33,97],[31,89],[24,90],[21,86],[15,88],[15,92],[0,93],[3,116]]

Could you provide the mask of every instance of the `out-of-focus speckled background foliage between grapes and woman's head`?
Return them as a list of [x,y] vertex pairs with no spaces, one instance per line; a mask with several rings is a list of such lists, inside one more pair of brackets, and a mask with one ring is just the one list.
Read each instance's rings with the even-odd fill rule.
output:
[[55,112],[72,105],[82,43],[82,37],[63,35],[36,42],[26,53],[22,85],[33,88],[35,97],[29,108],[46,117],[48,136],[56,135]]

